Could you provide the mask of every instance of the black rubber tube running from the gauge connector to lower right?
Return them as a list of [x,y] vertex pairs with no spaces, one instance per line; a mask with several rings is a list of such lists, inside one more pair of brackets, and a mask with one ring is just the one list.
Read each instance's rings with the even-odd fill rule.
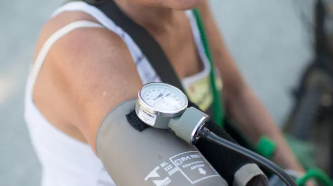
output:
[[267,168],[268,170],[272,171],[274,174],[278,175],[281,180],[283,180],[287,186],[297,186],[296,182],[294,179],[289,176],[283,169],[281,169],[278,165],[275,163],[271,162],[270,160],[264,158],[263,156],[252,152],[236,143],[233,143],[231,141],[228,141],[226,139],[223,139],[213,132],[210,132],[209,129],[206,127],[203,127],[200,131],[200,137],[205,138],[210,142],[219,144],[221,146],[227,147],[233,151],[236,151],[240,154],[243,154],[255,161],[256,163],[262,165],[263,167]]

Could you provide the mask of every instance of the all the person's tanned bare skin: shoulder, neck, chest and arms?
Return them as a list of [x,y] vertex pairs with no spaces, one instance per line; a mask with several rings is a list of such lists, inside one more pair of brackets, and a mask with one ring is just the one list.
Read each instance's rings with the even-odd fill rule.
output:
[[[205,0],[115,0],[136,23],[160,44],[179,78],[202,70],[191,26],[183,10],[197,7],[212,50],[215,66],[224,82],[226,109],[238,128],[257,143],[266,135],[278,143],[274,161],[283,168],[303,172],[281,130],[245,83],[223,41]],[[83,12],[65,12],[42,29],[36,55],[46,39],[65,25],[89,20]],[[97,129],[118,104],[136,98],[142,86],[126,44],[105,28],[72,31],[50,49],[34,88],[34,102],[42,115],[67,135],[89,143],[95,151]]]

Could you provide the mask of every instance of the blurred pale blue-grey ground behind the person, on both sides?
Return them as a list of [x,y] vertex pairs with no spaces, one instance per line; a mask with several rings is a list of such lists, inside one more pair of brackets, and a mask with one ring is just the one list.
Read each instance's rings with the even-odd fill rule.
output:
[[[21,0],[0,6],[0,185],[39,183],[40,165],[22,118],[23,90],[38,32],[61,3]],[[281,124],[291,106],[290,88],[311,58],[309,35],[291,0],[211,4],[244,76]]]

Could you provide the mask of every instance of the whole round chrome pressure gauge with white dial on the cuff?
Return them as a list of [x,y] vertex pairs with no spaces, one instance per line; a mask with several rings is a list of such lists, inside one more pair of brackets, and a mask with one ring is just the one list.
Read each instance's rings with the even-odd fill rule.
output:
[[179,88],[167,83],[152,82],[140,88],[135,111],[147,125],[168,128],[170,119],[182,115],[187,106],[188,99]]

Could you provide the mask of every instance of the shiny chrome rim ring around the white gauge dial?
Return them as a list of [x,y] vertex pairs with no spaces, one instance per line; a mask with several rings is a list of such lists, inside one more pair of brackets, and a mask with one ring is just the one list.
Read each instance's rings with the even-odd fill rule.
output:
[[[147,86],[152,86],[152,85],[162,85],[162,86],[169,86],[169,88],[173,89],[174,91],[177,91],[178,94],[180,94],[182,97],[184,97],[185,99],[185,105],[178,109],[178,110],[175,110],[175,111],[162,111],[162,110],[159,110],[159,109],[155,109],[153,107],[151,107],[150,105],[148,105],[142,98],[141,96],[141,93],[142,93],[142,90],[147,87]],[[177,117],[177,116],[180,116],[184,113],[184,111],[186,110],[186,108],[188,107],[188,99],[186,97],[186,95],[184,94],[184,92],[182,90],[180,90],[179,88],[177,88],[176,86],[173,86],[171,84],[168,84],[168,83],[163,83],[163,82],[150,82],[150,83],[147,83],[145,85],[143,85],[139,91],[138,91],[138,104],[144,109],[146,110],[147,112],[151,113],[151,114],[154,114],[156,116],[163,116],[163,117]]]

